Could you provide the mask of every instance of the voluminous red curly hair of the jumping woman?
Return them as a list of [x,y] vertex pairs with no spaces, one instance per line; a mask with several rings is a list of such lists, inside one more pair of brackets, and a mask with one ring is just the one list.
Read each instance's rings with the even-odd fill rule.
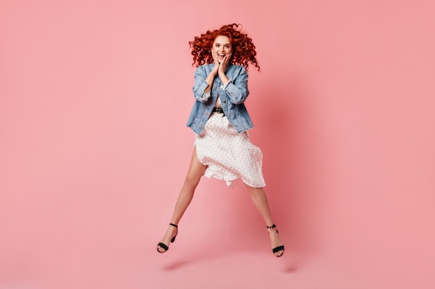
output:
[[255,45],[252,43],[252,39],[245,33],[238,30],[238,26],[241,24],[229,24],[224,25],[219,29],[213,31],[207,30],[206,33],[202,33],[201,36],[195,36],[195,40],[189,42],[190,48],[192,48],[193,63],[192,66],[199,67],[202,64],[214,63],[211,56],[211,47],[217,36],[223,35],[229,38],[229,41],[233,45],[233,53],[231,56],[231,62],[234,64],[240,64],[248,70],[249,63],[254,65],[258,71],[260,66],[256,60]]

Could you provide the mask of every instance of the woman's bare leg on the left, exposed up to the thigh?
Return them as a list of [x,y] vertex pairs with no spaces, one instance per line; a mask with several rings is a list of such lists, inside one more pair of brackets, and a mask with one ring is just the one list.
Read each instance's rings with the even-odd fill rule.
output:
[[[206,170],[206,167],[207,166],[199,162],[197,148],[195,146],[192,153],[192,159],[190,160],[188,174],[184,181],[183,188],[181,188],[177,203],[175,204],[174,213],[172,214],[172,224],[178,225],[178,223],[180,222],[181,217],[183,216],[184,212],[192,201],[193,193],[195,193],[195,189],[199,183],[199,180],[201,179],[201,176],[204,174],[204,170]],[[169,226],[165,236],[161,240],[161,243],[169,245],[170,240],[175,235],[177,235],[177,228]],[[157,249],[161,253],[165,252],[165,249],[160,246],[157,246]]]

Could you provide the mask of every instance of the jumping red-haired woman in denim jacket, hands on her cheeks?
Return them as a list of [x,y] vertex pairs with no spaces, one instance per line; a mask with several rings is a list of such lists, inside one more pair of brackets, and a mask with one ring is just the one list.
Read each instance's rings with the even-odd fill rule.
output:
[[168,245],[174,242],[178,223],[199,179],[205,175],[224,179],[229,187],[242,179],[269,231],[273,254],[278,257],[284,254],[284,245],[263,190],[263,154],[249,141],[247,134],[252,128],[244,105],[249,94],[247,69],[252,64],[259,71],[260,66],[251,38],[238,30],[239,25],[208,30],[189,42],[197,70],[192,88],[196,101],[187,125],[196,134],[195,148],[170,226],[157,245],[160,253],[166,252]]

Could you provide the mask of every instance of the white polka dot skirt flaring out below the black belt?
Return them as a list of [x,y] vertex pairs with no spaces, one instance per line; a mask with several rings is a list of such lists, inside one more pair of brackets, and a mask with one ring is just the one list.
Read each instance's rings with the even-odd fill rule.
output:
[[240,134],[226,116],[213,112],[204,131],[195,139],[199,161],[206,165],[205,177],[224,179],[229,188],[238,179],[248,186],[265,186],[261,166],[263,153],[249,140],[247,132]]

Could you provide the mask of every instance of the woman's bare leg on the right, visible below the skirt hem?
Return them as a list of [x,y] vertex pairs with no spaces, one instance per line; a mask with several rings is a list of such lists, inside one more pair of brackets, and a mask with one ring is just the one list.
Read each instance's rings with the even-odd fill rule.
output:
[[[266,197],[263,188],[252,188],[252,186],[246,186],[249,194],[251,195],[252,202],[254,202],[256,209],[260,213],[261,217],[263,217],[266,226],[272,226],[274,224],[272,219],[272,213],[270,213],[268,198]],[[272,244],[272,249],[283,245],[281,239],[279,238],[277,228],[268,229],[268,231],[270,236],[270,243]],[[284,250],[279,250],[274,254],[277,257],[281,256],[282,254],[284,254]]]

